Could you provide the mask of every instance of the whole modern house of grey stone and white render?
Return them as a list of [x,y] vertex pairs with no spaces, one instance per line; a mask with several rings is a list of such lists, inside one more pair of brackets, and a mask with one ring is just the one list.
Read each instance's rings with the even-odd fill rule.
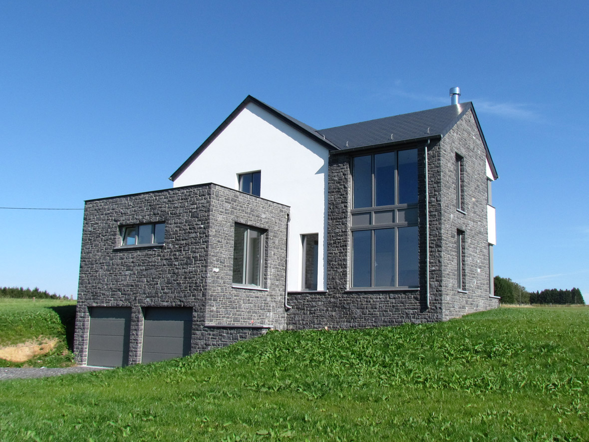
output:
[[171,189],[88,200],[78,363],[496,307],[498,176],[456,89],[445,107],[323,130],[249,96]]

